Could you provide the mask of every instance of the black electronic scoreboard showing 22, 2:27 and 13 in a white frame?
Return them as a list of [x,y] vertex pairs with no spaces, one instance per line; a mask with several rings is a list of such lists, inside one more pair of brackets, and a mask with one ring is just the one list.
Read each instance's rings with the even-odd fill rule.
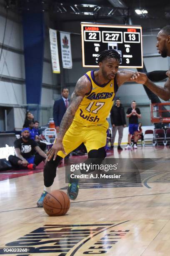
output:
[[81,23],[82,66],[98,67],[101,51],[114,49],[122,68],[143,68],[142,28],[140,26]]

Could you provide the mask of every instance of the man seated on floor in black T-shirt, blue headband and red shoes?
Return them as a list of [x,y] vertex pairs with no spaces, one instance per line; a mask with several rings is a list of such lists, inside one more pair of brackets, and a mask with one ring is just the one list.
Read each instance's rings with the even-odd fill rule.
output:
[[[15,156],[8,157],[13,167],[28,168],[33,170],[42,161],[46,161],[45,153],[40,149],[37,143],[30,139],[30,131],[28,128],[23,128],[22,138],[14,142]],[[34,155],[34,152],[36,154]]]

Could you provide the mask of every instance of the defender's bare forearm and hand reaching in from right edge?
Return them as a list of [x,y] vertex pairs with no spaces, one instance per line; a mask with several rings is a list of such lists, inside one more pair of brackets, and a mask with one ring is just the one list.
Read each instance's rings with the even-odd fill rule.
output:
[[[169,73],[167,72],[169,77]],[[137,82],[138,84],[144,84],[152,92],[158,95],[161,99],[167,101],[170,99],[170,78],[165,82],[164,87],[154,84],[148,79],[145,73],[135,72],[131,78],[131,81]]]

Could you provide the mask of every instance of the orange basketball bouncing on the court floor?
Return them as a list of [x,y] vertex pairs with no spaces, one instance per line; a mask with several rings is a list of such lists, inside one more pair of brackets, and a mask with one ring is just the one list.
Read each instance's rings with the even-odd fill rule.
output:
[[65,192],[53,190],[44,197],[43,207],[50,216],[65,215],[70,208],[70,199]]

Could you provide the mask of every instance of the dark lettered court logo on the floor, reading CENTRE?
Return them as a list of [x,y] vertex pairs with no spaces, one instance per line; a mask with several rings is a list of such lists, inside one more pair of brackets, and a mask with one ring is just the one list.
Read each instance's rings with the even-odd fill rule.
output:
[[[122,229],[122,224],[125,228]],[[113,255],[115,244],[130,231],[127,229],[128,221],[121,223],[91,223],[77,225],[44,225],[33,230],[16,241],[7,243],[8,248],[25,248],[23,254],[32,255],[44,253],[55,256],[79,256],[80,249],[84,254]],[[119,228],[121,225],[121,228]],[[0,249],[0,253],[2,249]]]

